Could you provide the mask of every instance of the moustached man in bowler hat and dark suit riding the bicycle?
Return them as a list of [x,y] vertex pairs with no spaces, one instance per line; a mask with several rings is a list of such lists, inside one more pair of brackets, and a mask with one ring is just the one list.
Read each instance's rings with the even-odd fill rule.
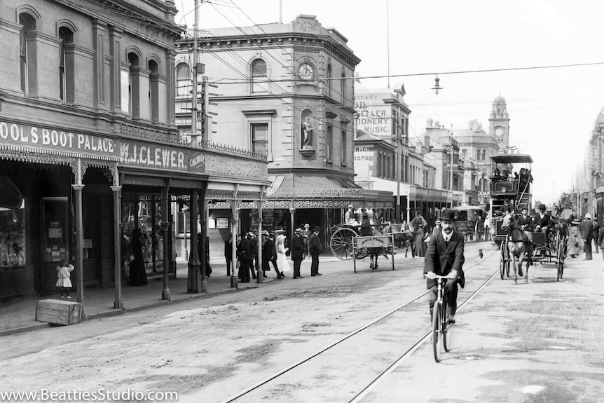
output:
[[424,260],[424,274],[427,278],[426,287],[430,289],[430,318],[432,318],[434,302],[437,300],[437,281],[434,275],[447,275],[450,278],[445,285],[449,296],[448,320],[455,323],[458,284],[462,288],[465,285],[463,275],[465,257],[463,255],[463,234],[453,230],[455,227],[454,210],[443,210],[441,227],[442,231],[430,238]]

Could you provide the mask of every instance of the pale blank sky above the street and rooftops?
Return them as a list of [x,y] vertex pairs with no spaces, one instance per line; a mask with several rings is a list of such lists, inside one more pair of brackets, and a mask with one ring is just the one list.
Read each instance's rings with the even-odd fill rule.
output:
[[[193,27],[194,1],[174,0],[177,24]],[[281,4],[281,6],[280,6]],[[280,17],[281,10],[281,17]],[[405,86],[411,136],[427,118],[488,131],[497,95],[507,102],[510,145],[533,160],[533,199],[554,203],[584,170],[604,107],[601,0],[210,0],[199,27],[288,23],[316,15],[348,39],[367,88]],[[227,19],[228,18],[228,19]],[[579,66],[577,64],[590,64]],[[600,64],[597,64],[600,63]],[[549,66],[552,67],[535,68]],[[486,71],[501,70],[507,71]],[[443,88],[431,88],[438,73]],[[364,78],[380,76],[380,78]],[[388,77],[389,76],[389,77]],[[585,186],[585,184],[584,184]]]

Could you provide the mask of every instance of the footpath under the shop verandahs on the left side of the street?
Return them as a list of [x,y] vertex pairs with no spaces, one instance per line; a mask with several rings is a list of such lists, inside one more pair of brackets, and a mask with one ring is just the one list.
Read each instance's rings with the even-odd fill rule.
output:
[[[309,265],[309,261],[310,259],[303,261],[303,268],[306,267],[305,265]],[[339,261],[339,259],[331,255],[331,253],[325,253],[321,255],[320,261],[327,263]],[[149,284],[140,287],[122,285],[123,309],[114,308],[114,287],[84,289],[84,320],[122,315],[135,310],[179,303],[195,298],[210,298],[219,294],[256,289],[263,287],[263,285],[268,285],[275,280],[275,271],[271,270],[268,272],[269,277],[264,278],[263,284],[258,284],[255,280],[252,280],[249,283],[238,283],[237,288],[232,288],[231,277],[226,276],[224,258],[212,258],[210,259],[210,265],[212,266],[212,275],[207,280],[207,293],[193,294],[188,293],[186,290],[188,265],[186,262],[177,262],[176,278],[170,278],[169,281],[170,301],[161,299],[163,291],[162,277],[151,278],[149,279]],[[293,265],[291,261],[290,265]],[[350,266],[352,267],[352,261],[350,261]],[[287,275],[291,277],[291,272],[287,273]],[[0,336],[55,326],[35,320],[36,303],[41,299],[61,298],[58,292],[43,296],[32,294],[0,303]],[[64,299],[64,301],[77,301],[77,293],[71,292],[71,299]]]

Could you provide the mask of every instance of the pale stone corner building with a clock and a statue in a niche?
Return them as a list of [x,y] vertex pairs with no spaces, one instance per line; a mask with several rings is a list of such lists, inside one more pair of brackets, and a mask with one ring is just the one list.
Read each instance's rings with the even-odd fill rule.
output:
[[[348,205],[393,208],[392,192],[363,189],[353,180],[352,78],[360,59],[343,34],[322,27],[314,15],[297,15],[289,23],[200,35],[199,61],[209,87],[207,140],[268,159],[270,186],[260,203],[238,210],[240,232],[261,222],[290,238],[295,228],[310,224],[320,226],[327,245],[329,228],[344,221]],[[190,66],[192,48],[190,37],[177,42],[177,87],[189,79],[179,66]],[[180,120],[177,111],[182,130],[190,130],[187,111]],[[221,203],[208,198],[210,218],[221,216]]]

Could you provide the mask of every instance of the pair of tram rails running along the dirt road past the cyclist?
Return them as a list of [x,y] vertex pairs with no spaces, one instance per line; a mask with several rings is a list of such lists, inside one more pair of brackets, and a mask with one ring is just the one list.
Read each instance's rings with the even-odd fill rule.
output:
[[[467,268],[465,268],[465,272],[467,273],[474,266],[477,266],[477,265],[483,263],[483,261],[485,261],[489,257],[492,257],[494,254],[499,254],[499,250],[494,250],[487,256],[483,257],[483,259],[481,259],[480,261],[476,261],[476,262],[470,264]],[[479,292],[481,292],[483,290],[483,288],[486,287],[486,285],[488,285],[490,280],[493,280],[493,278],[495,278],[495,276],[498,273],[499,273],[499,269],[497,268],[497,271],[495,271],[495,273],[493,273],[492,275],[489,275],[487,280],[485,280],[474,292],[472,292],[472,294],[470,294],[463,301],[460,301],[460,303],[458,303],[458,310],[462,309],[463,306],[465,306],[466,303],[471,301],[476,294],[479,294]],[[405,303],[402,303],[400,306],[397,306],[396,308],[390,310],[389,312],[387,312],[383,315],[380,315],[380,317],[376,318],[375,320],[372,320],[371,322],[366,323],[366,325],[363,325],[362,327],[355,329],[354,331],[346,334],[345,336],[341,337],[340,339],[330,343],[328,346],[321,348],[320,350],[317,350],[315,353],[312,353],[306,357],[303,357],[301,360],[298,360],[294,364],[291,364],[288,367],[285,367],[284,369],[280,369],[279,371],[267,376],[266,378],[263,378],[261,381],[258,381],[256,383],[254,383],[253,385],[250,385],[249,387],[245,388],[244,390],[241,390],[236,395],[228,397],[227,399],[223,400],[222,403],[237,402],[240,399],[242,399],[242,397],[249,395],[250,392],[254,392],[256,390],[261,389],[265,385],[273,383],[273,381],[279,379],[280,377],[284,376],[285,374],[288,374],[292,370],[294,370],[298,367],[301,367],[303,364],[307,364],[308,362],[311,362],[311,360],[314,360],[317,357],[320,357],[321,355],[328,352],[329,350],[336,348],[336,346],[341,346],[343,343],[345,343],[345,341],[350,340],[353,336],[357,336],[357,335],[361,334],[362,332],[366,331],[367,329],[374,327],[379,322],[382,322],[386,318],[392,317],[392,315],[394,315],[395,313],[398,313],[401,310],[404,310],[404,308],[411,306],[416,301],[423,299],[427,295],[427,293],[428,293],[428,291],[426,290],[422,294],[419,294],[418,296],[415,296],[415,297],[407,300]],[[366,383],[364,388],[362,388],[362,390],[357,392],[357,394],[354,397],[352,397],[352,399],[350,399],[349,402],[361,401],[361,399],[364,397],[364,395],[366,395],[367,392],[369,392],[372,388],[374,388],[375,385],[377,385],[383,378],[385,378],[385,376],[390,374],[390,372],[392,372],[396,367],[398,367],[399,364],[401,364],[401,362],[403,362],[406,357],[409,357],[409,355],[413,354],[413,352],[415,352],[425,342],[425,340],[430,336],[430,333],[431,332],[427,332],[425,335],[421,336],[420,339],[418,341],[414,342],[410,348],[408,348],[402,354],[400,354],[399,357],[397,358],[397,360],[395,360],[390,365],[388,365],[388,367],[385,370],[381,371],[380,374],[378,376],[376,376],[375,378],[373,378],[369,383]]]

